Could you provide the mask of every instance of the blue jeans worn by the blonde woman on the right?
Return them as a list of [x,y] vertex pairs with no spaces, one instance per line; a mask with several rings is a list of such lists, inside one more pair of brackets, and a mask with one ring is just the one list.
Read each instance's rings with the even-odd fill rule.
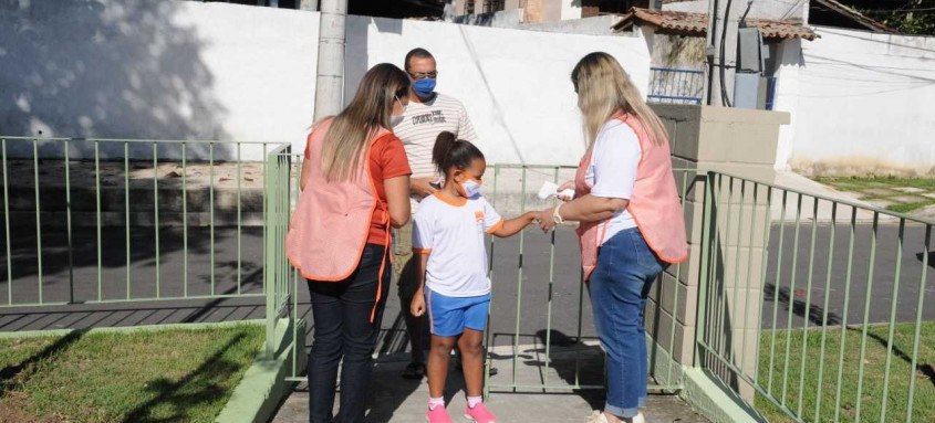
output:
[[607,355],[604,411],[633,417],[646,405],[646,334],[643,308],[650,287],[666,266],[636,228],[616,233],[598,251],[588,292],[594,327]]

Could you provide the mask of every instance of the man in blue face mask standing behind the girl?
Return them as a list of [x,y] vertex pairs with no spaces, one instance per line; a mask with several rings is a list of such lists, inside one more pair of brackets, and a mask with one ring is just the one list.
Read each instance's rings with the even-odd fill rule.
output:
[[[401,118],[393,123],[393,133],[406,149],[413,177],[409,180],[413,213],[418,202],[438,187],[440,176],[432,162],[432,149],[438,134],[448,131],[456,138],[477,144],[477,134],[461,102],[435,92],[438,77],[435,57],[425,49],[413,49],[406,54],[405,71],[409,75],[409,104]],[[395,118],[395,116],[394,116]],[[425,374],[423,353],[424,317],[407,313],[416,293],[416,278],[412,263],[412,222],[401,228],[395,237],[393,271],[399,284],[399,300],[406,316],[406,330],[413,350],[412,362],[403,373],[407,379],[422,379]]]

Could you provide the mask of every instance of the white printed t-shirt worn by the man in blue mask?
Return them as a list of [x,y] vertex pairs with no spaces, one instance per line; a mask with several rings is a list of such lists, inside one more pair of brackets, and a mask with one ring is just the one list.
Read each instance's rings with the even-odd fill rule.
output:
[[468,119],[461,102],[444,94],[426,103],[409,102],[403,121],[393,127],[393,134],[403,141],[413,178],[436,177],[432,162],[432,149],[435,138],[441,131],[455,134],[458,139],[477,142],[477,134]]

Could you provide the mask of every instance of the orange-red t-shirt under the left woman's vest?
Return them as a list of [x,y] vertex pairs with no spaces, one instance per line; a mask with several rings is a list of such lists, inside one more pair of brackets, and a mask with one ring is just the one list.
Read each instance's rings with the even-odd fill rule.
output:
[[[311,137],[309,138],[311,139]],[[311,158],[311,145],[305,144],[305,159]],[[383,245],[386,242],[386,229],[381,224],[386,209],[386,188],[383,181],[413,175],[403,141],[393,134],[377,138],[370,148],[370,177],[376,187],[377,207],[373,211],[367,243]]]

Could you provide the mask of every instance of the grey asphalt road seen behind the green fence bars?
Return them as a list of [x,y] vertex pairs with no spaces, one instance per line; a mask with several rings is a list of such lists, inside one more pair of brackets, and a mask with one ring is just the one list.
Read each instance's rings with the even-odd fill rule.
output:
[[[785,228],[785,230],[782,229]],[[923,319],[935,320],[935,257],[933,246],[923,245],[923,226],[907,226],[903,234],[902,258],[896,261],[898,226],[881,225],[877,230],[874,260],[871,262],[872,231],[870,225],[855,230],[851,272],[849,262],[850,229],[839,225],[831,250],[831,226],[815,226],[814,254],[811,254],[812,228],[799,228],[798,247],[793,225],[773,225],[763,289],[762,327],[785,328],[791,315],[792,327],[802,327],[806,314],[810,325],[817,325],[828,310],[830,325],[890,321],[893,298],[896,300],[897,321],[914,321],[920,295],[924,296]],[[779,248],[782,232],[782,248]],[[214,242],[212,242],[214,237]],[[238,241],[239,239],[239,241]],[[0,239],[2,240],[2,239]],[[262,318],[263,299],[187,299],[163,302],[132,302],[124,299],[155,297],[158,269],[158,294],[163,297],[237,294],[259,294],[262,289],[262,231],[245,228],[238,236],[236,228],[219,228],[214,235],[206,228],[188,230],[188,245],[183,243],[178,228],[159,232],[159,257],[156,260],[155,232],[152,228],[131,229],[129,289],[127,289],[127,252],[124,228],[102,231],[97,272],[97,234],[92,229],[76,229],[72,233],[74,263],[70,275],[67,234],[44,231],[42,234],[42,298],[44,302],[69,302],[75,305],[60,307],[0,306],[0,330],[30,330],[50,328],[82,328],[91,326],[127,326],[157,322],[220,321],[243,318]],[[239,260],[238,260],[239,243]],[[214,245],[214,247],[212,247]],[[520,254],[522,245],[522,254]],[[34,303],[39,298],[39,261],[37,260],[34,228],[28,222],[11,229],[11,254],[8,281],[6,244],[0,245],[0,305]],[[590,300],[579,282],[578,242],[574,233],[562,229],[554,235],[554,266],[550,267],[552,236],[538,230],[527,230],[519,235],[496,240],[494,257],[494,303],[491,307],[491,335],[496,345],[513,342],[532,343],[551,328],[553,339],[593,337]],[[781,261],[780,261],[781,251]],[[798,251],[793,255],[792,252]],[[216,265],[211,273],[211,254]],[[929,255],[925,285],[921,285],[922,258]],[[186,267],[187,256],[187,272]],[[792,262],[792,257],[797,257]],[[832,271],[828,278],[828,261]],[[813,258],[812,258],[813,257]],[[520,263],[522,266],[520,267]],[[871,263],[873,272],[870,271]],[[900,284],[894,276],[900,264]],[[794,269],[794,272],[792,272]],[[730,271],[730,269],[728,269]],[[187,275],[187,277],[186,277]],[[241,283],[237,284],[238,275]],[[551,276],[550,276],[551,275]],[[792,276],[794,275],[794,285]],[[869,275],[873,275],[872,281]],[[74,281],[70,284],[70,276]],[[811,289],[809,289],[811,276]],[[100,277],[100,284],[98,284]],[[551,283],[550,283],[551,281]],[[850,281],[850,292],[848,292]],[[869,283],[872,283],[870,285]],[[868,289],[870,286],[870,289]],[[845,293],[849,293],[845,295]],[[93,304],[100,298],[106,304]],[[809,298],[811,294],[811,298]],[[551,305],[549,298],[551,296]],[[844,298],[850,298],[844,314]],[[870,298],[870,307],[865,307]],[[810,299],[810,302],[807,302]],[[825,299],[828,305],[825,307]],[[82,304],[83,303],[83,304]],[[308,290],[299,285],[299,314],[308,314]],[[791,308],[791,310],[790,310]],[[730,310],[736,315],[739,310]],[[773,311],[777,318],[773,320]],[[386,351],[405,348],[403,320],[395,286],[387,302],[383,320],[385,336],[381,348]],[[551,316],[551,318],[550,318]],[[579,317],[581,317],[579,322]]]

